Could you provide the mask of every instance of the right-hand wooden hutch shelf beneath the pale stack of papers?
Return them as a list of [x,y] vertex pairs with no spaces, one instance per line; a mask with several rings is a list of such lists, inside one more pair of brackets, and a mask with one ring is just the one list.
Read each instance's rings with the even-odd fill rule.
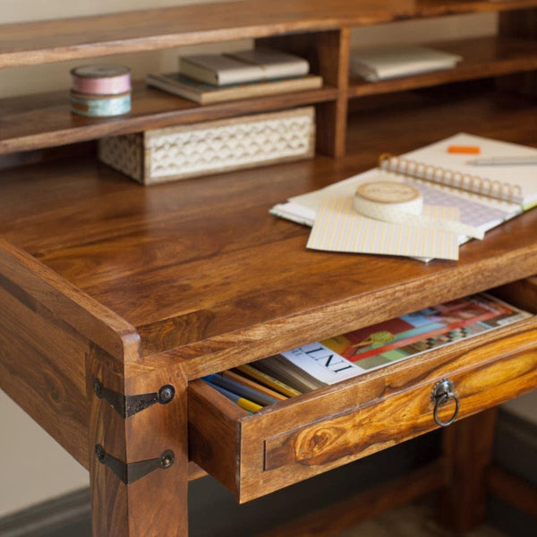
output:
[[[507,13],[510,16],[511,13]],[[349,97],[363,97],[415,90],[456,81],[469,81],[490,76],[503,76],[513,72],[528,72],[537,68],[537,41],[524,39],[516,31],[505,37],[485,37],[443,41],[427,44],[438,50],[463,56],[454,69],[426,72],[388,81],[368,82],[351,76]],[[351,50],[352,54],[352,50]],[[525,76],[525,75],[524,75]]]

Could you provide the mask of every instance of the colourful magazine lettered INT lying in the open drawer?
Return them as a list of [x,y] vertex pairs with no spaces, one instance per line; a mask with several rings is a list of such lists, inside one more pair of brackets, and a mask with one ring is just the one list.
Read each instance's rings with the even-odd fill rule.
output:
[[335,384],[531,317],[489,294],[474,294],[254,362],[304,392]]

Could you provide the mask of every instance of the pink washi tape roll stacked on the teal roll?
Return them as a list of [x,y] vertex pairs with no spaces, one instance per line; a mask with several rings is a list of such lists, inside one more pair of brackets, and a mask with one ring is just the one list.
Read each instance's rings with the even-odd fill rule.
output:
[[123,65],[82,65],[71,70],[72,90],[116,95],[131,90],[131,70]]

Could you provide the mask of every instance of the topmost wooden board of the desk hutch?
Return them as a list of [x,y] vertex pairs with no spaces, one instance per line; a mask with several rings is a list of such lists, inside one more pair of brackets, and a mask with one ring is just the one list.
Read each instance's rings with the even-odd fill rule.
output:
[[[0,67],[138,52],[286,32],[334,30],[458,13],[514,10],[534,0],[245,0],[0,26]],[[113,36],[113,37],[112,37]]]

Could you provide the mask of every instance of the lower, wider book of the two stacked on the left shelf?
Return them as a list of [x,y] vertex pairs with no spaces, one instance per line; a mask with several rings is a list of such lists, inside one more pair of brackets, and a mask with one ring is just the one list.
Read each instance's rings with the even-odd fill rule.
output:
[[168,72],[166,74],[148,74],[146,83],[148,86],[187,98],[200,105],[209,105],[241,98],[317,90],[322,87],[322,77],[307,74],[297,78],[244,82],[217,87],[205,82],[194,81],[180,72]]

